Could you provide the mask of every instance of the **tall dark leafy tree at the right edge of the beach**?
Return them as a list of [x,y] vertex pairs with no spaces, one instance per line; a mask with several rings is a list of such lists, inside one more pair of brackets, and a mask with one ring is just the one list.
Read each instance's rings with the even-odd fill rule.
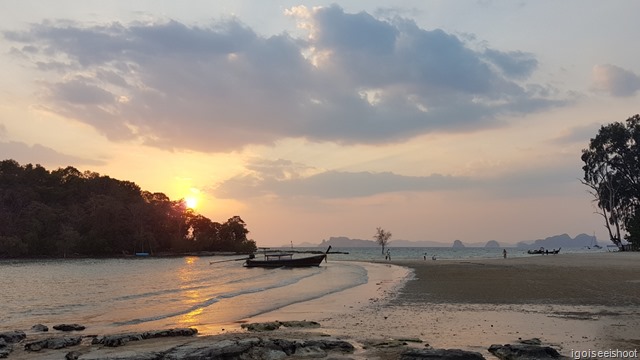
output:
[[626,230],[625,238],[640,244],[640,115],[601,126],[581,159],[581,182],[590,188],[611,242],[621,247]]

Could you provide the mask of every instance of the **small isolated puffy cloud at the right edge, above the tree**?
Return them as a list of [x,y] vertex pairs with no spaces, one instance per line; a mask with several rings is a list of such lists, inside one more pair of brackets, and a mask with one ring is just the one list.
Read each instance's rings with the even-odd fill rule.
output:
[[640,76],[615,65],[596,65],[592,71],[593,88],[611,96],[633,96],[640,90]]

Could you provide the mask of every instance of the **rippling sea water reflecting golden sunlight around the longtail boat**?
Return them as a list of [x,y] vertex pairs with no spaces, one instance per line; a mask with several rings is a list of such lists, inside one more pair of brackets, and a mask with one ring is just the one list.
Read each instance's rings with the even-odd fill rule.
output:
[[[0,332],[77,323],[91,334],[177,327],[219,333],[364,284],[368,275],[361,261],[386,261],[381,248],[332,251],[339,253],[330,253],[320,267],[293,269],[246,268],[238,256],[0,260]],[[531,256],[522,249],[507,251],[510,257]],[[606,250],[562,250],[593,251]],[[502,248],[392,247],[389,255],[422,261],[499,258]]]

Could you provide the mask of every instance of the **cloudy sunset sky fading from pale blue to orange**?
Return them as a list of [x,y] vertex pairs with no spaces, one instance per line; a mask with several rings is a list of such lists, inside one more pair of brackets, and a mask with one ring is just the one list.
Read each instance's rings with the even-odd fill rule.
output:
[[0,158],[332,236],[606,239],[580,183],[640,112],[640,2],[3,0]]

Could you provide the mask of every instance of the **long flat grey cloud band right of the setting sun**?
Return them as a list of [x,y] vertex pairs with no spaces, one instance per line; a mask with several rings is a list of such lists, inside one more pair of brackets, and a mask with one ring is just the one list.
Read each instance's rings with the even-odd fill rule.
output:
[[220,199],[270,198],[353,199],[387,193],[476,191],[499,198],[535,198],[565,195],[581,178],[580,157],[558,154],[552,164],[517,168],[493,177],[431,174],[407,176],[392,172],[322,170],[294,163],[253,159],[246,172],[207,189]]

